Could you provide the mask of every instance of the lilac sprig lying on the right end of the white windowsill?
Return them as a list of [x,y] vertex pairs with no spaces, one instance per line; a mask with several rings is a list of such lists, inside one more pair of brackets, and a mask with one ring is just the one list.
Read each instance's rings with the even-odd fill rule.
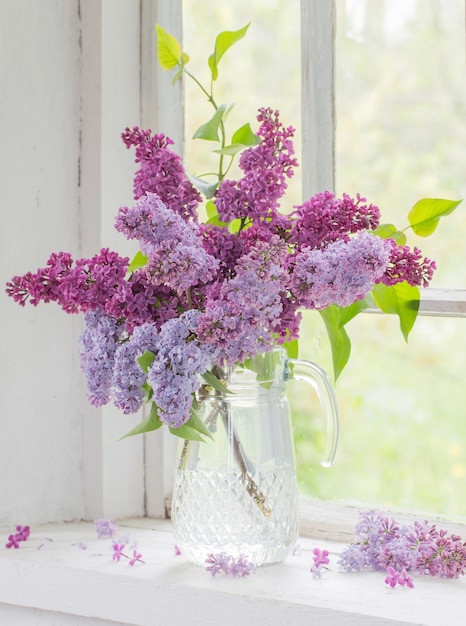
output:
[[356,540],[341,553],[339,564],[346,571],[392,568],[406,584],[403,570],[458,578],[466,572],[466,542],[427,521],[400,525],[384,513],[364,511]]

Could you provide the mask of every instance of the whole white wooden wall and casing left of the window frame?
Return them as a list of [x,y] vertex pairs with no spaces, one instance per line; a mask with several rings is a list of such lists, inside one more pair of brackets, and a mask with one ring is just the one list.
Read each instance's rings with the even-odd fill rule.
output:
[[[131,256],[113,227],[132,202],[140,122],[140,5],[134,0],[0,0],[1,278],[101,247]],[[89,406],[82,316],[3,297],[0,523],[144,513],[137,423]],[[6,331],[6,332],[5,332]]]

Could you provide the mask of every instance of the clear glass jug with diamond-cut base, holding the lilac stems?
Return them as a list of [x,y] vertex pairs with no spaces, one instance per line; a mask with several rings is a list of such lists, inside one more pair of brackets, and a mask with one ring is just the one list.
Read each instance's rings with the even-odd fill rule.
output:
[[180,444],[172,504],[174,538],[188,561],[209,554],[282,561],[298,535],[298,488],[286,382],[316,391],[327,420],[322,465],[338,438],[335,394],[327,374],[275,348],[216,374],[228,392],[204,385],[199,415],[212,439]]

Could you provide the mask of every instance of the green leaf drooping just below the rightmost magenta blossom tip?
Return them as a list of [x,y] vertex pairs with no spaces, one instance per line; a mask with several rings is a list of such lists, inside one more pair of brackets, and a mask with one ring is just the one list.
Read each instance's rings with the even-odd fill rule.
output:
[[401,332],[408,341],[419,310],[419,288],[412,287],[406,281],[391,287],[380,284],[374,286],[372,295],[384,313],[398,315]]

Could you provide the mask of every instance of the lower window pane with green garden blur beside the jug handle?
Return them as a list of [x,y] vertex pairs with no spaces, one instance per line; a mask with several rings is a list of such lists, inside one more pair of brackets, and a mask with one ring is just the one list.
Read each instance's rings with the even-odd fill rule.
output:
[[[315,319],[301,348],[325,364],[327,341]],[[319,467],[319,407],[293,383],[300,488],[324,500],[466,516],[466,320],[419,318],[409,345],[397,324],[378,314],[350,324],[353,353],[336,385],[341,436],[331,469]]]

